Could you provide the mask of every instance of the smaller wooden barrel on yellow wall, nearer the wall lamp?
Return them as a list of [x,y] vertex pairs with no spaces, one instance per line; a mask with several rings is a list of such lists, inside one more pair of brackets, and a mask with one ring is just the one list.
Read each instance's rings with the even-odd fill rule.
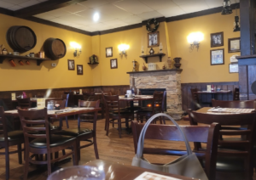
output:
[[66,52],[66,45],[61,39],[51,37],[44,42],[44,53],[49,59],[61,59]]

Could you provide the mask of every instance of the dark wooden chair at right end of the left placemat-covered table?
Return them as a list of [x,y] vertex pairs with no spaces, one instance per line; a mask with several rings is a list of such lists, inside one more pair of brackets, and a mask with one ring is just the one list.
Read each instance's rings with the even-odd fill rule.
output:
[[[99,108],[100,100],[97,101],[84,101],[79,99],[79,107],[88,107],[88,108]],[[87,127],[80,127],[81,124],[81,118],[79,115],[78,120],[78,128],[69,128],[66,130],[62,130],[61,132],[57,132],[56,134],[66,135],[66,136],[72,136],[77,139],[77,145],[78,145],[78,155],[80,159],[80,149],[83,149],[85,147],[88,147],[90,145],[94,145],[94,151],[96,155],[96,159],[99,159],[98,149],[97,149],[97,143],[96,143],[96,121],[97,121],[97,114],[98,112],[95,112],[93,115],[92,121],[86,121],[93,123],[93,129],[87,128]],[[93,141],[90,140],[90,138],[93,138]],[[85,145],[80,145],[81,141],[88,141],[90,143],[87,143]]]

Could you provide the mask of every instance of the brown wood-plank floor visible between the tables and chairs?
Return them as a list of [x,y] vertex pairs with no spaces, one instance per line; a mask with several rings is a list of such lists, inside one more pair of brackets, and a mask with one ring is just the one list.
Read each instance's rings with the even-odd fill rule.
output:
[[[179,125],[188,125],[188,121],[177,121]],[[64,128],[66,123],[64,123]],[[117,125],[113,128],[110,126],[109,135],[106,136],[106,132],[104,131],[105,120],[97,121],[97,144],[99,150],[99,156],[101,160],[108,160],[113,162],[119,162],[125,165],[131,165],[131,160],[135,155],[134,147],[133,147],[133,139],[132,134],[128,134],[125,130],[122,131],[122,138],[119,138],[118,130],[116,129]],[[166,124],[172,124],[170,121],[166,121]],[[69,120],[69,126],[77,127],[77,121]],[[90,123],[82,123],[82,127],[91,127]],[[175,148],[179,147],[185,149],[184,143],[170,143],[166,141],[145,141],[146,147],[161,147],[161,148]],[[191,148],[193,145],[191,144]],[[15,147],[16,148],[16,147]],[[155,156],[146,155],[145,156],[151,162],[160,162],[167,163],[172,161],[173,159],[170,156],[159,155],[157,161]],[[0,155],[0,179],[5,179],[5,161],[4,155]],[[81,160],[79,161],[79,165],[84,165],[86,162],[90,160],[96,160],[93,146],[81,150]],[[24,161],[23,161],[24,164]],[[67,162],[60,167],[65,166],[73,166],[72,161]],[[31,170],[33,166],[31,167]],[[21,179],[23,174],[23,165],[18,163],[18,155],[10,155],[10,180]],[[45,180],[48,177],[47,172],[42,172],[35,176],[30,177],[32,180]],[[255,174],[253,177],[256,180]]]

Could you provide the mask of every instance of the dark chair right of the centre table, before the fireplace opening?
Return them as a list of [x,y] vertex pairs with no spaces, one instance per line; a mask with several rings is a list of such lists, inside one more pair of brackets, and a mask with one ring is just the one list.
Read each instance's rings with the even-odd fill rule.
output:
[[[164,99],[164,93],[163,92],[154,92],[153,95],[153,100],[152,100],[152,106],[151,108],[146,108],[143,110],[138,110],[137,111],[137,121],[143,122],[143,118],[145,117],[145,120],[148,121],[148,119],[156,114],[160,113],[163,110],[163,99]],[[165,121],[164,121],[165,122]],[[160,124],[162,124],[162,120],[160,118]]]

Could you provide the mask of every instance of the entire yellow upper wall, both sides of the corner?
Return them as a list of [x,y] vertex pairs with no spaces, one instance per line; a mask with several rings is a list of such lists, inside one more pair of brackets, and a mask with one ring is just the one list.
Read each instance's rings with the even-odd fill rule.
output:
[[[129,75],[127,71],[132,70],[132,60],[137,61],[137,69],[143,70],[143,59],[141,48],[148,54],[148,31],[145,25],[132,30],[119,31],[101,36],[86,36],[73,31],[66,31],[49,25],[42,25],[28,20],[21,20],[7,15],[0,14],[1,24],[0,44],[5,44],[11,50],[5,39],[6,31],[12,25],[26,25],[36,33],[38,42],[35,48],[26,53],[37,53],[41,50],[44,41],[49,37],[60,38],[66,43],[67,54],[63,59],[45,61],[37,66],[36,61],[31,60],[31,65],[21,66],[18,61],[16,67],[9,65],[7,60],[0,65],[0,91],[26,90],[40,88],[58,87],[88,87],[108,85],[128,85]],[[156,63],[157,69],[167,65],[167,58],[181,57],[182,82],[237,82],[238,73],[229,73],[230,56],[240,53],[228,53],[228,38],[240,37],[240,32],[233,32],[234,14],[221,15],[210,14],[187,20],[173,22],[161,22],[160,42],[163,44],[163,52],[166,56],[162,62],[157,57],[148,59],[148,63]],[[198,51],[189,50],[187,36],[190,32],[201,31],[205,39],[200,43]],[[210,65],[211,48],[210,34],[224,31],[224,65]],[[82,46],[82,53],[79,57],[73,57],[73,48],[69,42],[78,42]],[[130,45],[127,56],[120,57],[118,45],[126,43]],[[113,57],[106,58],[105,50],[113,47]],[[158,53],[159,48],[154,48]],[[23,53],[22,55],[25,55]],[[99,65],[87,65],[91,54],[99,58]],[[78,76],[76,70],[67,70],[67,59],[74,59],[75,65],[84,65],[84,75]],[[110,68],[110,59],[118,59],[118,69]],[[57,63],[51,67],[51,63]],[[147,64],[145,64],[148,66]]]

